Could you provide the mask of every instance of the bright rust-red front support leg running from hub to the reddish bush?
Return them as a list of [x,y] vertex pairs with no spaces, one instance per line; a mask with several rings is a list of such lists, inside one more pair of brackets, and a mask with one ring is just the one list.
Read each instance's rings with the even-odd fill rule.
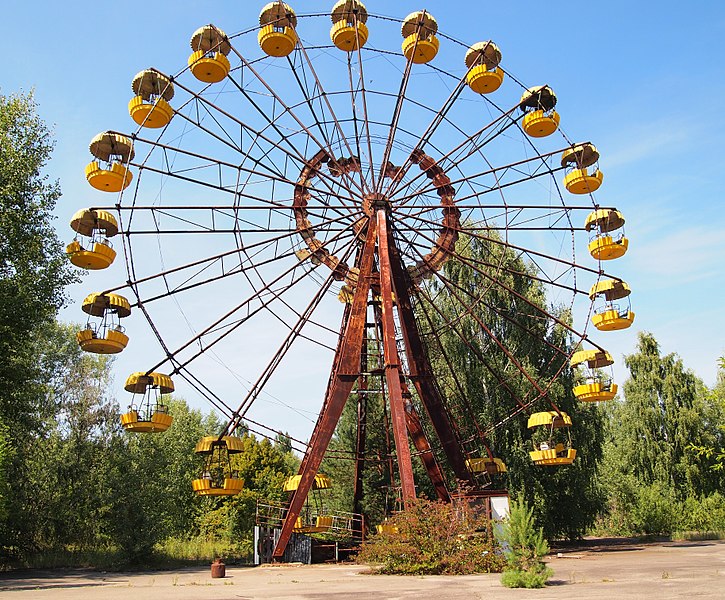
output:
[[[395,452],[398,458],[398,473],[402,488],[403,503],[409,508],[410,502],[415,499],[415,481],[413,479],[413,465],[408,443],[408,431],[405,418],[405,403],[400,379],[403,372],[398,356],[398,347],[395,339],[395,321],[393,316],[393,279],[391,262],[394,258],[390,254],[387,207],[375,208],[376,226],[378,229],[378,261],[380,264],[380,297],[381,320],[383,325],[383,353],[385,355],[385,380],[388,388],[388,401],[390,402],[390,417],[393,424],[395,438]],[[398,302],[400,300],[398,299]]]

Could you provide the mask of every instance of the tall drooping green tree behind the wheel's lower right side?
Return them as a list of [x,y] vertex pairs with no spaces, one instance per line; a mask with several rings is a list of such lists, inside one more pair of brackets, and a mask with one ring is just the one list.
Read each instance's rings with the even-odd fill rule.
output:
[[[597,485],[603,413],[598,406],[574,397],[573,373],[568,366],[555,378],[565,360],[555,348],[566,351],[571,340],[566,328],[552,323],[542,311],[563,323],[570,320],[568,312],[547,304],[534,265],[496,243],[493,233],[487,235],[489,240],[459,240],[457,249],[463,260],[446,263],[443,274],[447,284],[432,286],[428,302],[421,307],[430,328],[441,332],[440,345],[429,346],[434,367],[450,405],[468,403],[483,428],[499,425],[491,427],[488,442],[508,466],[512,497],[532,507],[547,537],[579,537],[593,524],[603,505]],[[498,283],[492,285],[491,278]],[[531,462],[532,434],[527,429],[526,413],[509,417],[517,408],[512,396],[524,399],[536,392],[481,324],[534,379],[554,379],[547,390],[548,399],[573,422],[571,435],[578,453],[571,466],[541,467]],[[447,363],[453,366],[455,376]],[[550,406],[543,400],[530,410],[550,410]],[[458,420],[464,437],[476,437],[472,424],[471,420]]]

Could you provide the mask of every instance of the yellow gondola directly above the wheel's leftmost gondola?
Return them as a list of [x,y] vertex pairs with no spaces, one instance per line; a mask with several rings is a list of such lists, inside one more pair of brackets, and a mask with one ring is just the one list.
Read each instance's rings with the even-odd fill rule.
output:
[[134,158],[130,139],[107,131],[94,137],[88,149],[97,159],[86,165],[91,186],[102,192],[120,192],[131,184],[133,174],[124,165]]

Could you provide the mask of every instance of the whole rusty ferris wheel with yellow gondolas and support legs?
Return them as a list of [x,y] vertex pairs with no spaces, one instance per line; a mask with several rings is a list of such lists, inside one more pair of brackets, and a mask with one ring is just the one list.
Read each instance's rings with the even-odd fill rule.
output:
[[[260,397],[289,394],[291,372],[326,379],[275,556],[323,480],[345,404],[366,393],[389,411],[403,502],[415,457],[443,500],[452,477],[490,486],[506,470],[491,432],[515,418],[540,432],[534,463],[571,464],[572,420],[552,386],[575,369],[581,401],[617,389],[612,357],[569,315],[587,303],[612,331],[634,313],[603,262],[627,250],[624,217],[594,197],[599,152],[562,132],[554,90],[520,82],[491,40],[462,43],[427,11],[382,17],[357,0],[325,14],[272,2],[233,35],[203,26],[179,63],[133,78],[132,120],[90,144],[87,180],[112,200],[71,222],[74,264],[126,266],[84,300],[81,347],[121,352],[132,313],[158,341],[158,361],[126,381],[124,428],[173,426],[162,396],[183,380],[228,418],[197,447],[194,490],[232,495],[235,430],[276,431],[254,419]],[[481,422],[451,339],[485,366],[507,414]],[[533,346],[546,349],[538,364],[524,356]]]

